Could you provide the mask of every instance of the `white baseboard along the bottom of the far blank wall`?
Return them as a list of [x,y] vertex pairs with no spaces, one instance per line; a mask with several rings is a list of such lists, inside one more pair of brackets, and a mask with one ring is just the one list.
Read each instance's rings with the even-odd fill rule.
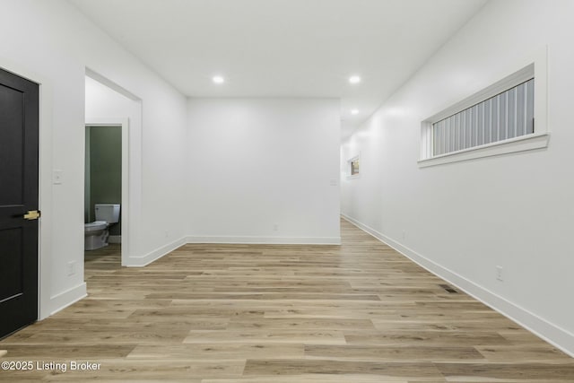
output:
[[188,236],[187,243],[225,243],[248,245],[340,245],[341,237]]

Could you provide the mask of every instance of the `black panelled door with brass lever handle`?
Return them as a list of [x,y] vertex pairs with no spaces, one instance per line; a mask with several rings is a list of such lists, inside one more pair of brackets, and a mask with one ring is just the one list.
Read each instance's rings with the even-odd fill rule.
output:
[[0,69],[0,337],[38,318],[39,85]]

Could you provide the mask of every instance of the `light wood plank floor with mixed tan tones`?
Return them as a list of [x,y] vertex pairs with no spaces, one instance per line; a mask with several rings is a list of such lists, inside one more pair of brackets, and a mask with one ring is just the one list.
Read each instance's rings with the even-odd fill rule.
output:
[[0,380],[574,382],[574,360],[342,222],[343,245],[91,252],[89,297],[0,342]]

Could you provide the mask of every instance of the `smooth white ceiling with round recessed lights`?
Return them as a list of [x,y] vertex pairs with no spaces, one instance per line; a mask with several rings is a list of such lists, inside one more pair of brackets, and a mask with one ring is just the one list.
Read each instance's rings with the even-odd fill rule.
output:
[[69,1],[188,97],[341,98],[343,137],[486,2]]

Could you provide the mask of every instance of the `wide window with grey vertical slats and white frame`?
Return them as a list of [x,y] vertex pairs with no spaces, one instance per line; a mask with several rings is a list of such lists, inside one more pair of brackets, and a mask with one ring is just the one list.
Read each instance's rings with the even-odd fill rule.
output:
[[422,121],[419,166],[547,146],[545,71],[537,60]]

